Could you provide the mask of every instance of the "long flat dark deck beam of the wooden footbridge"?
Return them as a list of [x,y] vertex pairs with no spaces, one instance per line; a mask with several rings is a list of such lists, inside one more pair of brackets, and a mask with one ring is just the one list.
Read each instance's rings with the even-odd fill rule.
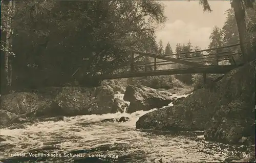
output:
[[113,74],[113,75],[100,75],[94,76],[99,80],[106,79],[121,79],[121,78],[135,78],[146,76],[159,76],[159,75],[176,75],[176,74],[225,74],[231,69],[238,67],[237,65],[216,65],[207,67],[193,67],[193,68],[181,68],[181,69],[167,69],[159,71],[148,72],[135,72],[127,74]]

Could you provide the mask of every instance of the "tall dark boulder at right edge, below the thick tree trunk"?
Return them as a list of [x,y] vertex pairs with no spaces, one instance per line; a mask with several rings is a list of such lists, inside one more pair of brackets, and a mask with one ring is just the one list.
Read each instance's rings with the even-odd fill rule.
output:
[[255,62],[233,69],[217,83],[221,106],[205,137],[226,143],[255,142]]

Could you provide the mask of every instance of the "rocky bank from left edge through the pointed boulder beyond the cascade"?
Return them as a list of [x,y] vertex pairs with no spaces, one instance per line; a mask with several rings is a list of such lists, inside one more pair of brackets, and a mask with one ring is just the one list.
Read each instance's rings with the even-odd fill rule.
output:
[[[75,115],[151,110],[176,100],[169,91],[159,92],[142,85],[129,85],[120,98],[117,86],[47,87],[1,96],[0,125],[63,120]],[[130,106],[129,106],[130,103]],[[129,107],[128,109],[126,109]]]

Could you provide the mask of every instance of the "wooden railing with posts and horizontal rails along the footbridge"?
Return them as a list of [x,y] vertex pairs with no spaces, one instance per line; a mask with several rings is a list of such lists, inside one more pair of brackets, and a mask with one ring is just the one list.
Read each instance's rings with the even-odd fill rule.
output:
[[[132,51],[131,52],[131,64],[130,64],[130,72],[134,72],[135,67],[144,67],[144,71],[146,72],[148,67],[151,67],[150,69],[154,69],[156,71],[158,69],[158,66],[162,65],[174,65],[171,66],[171,69],[174,69],[173,67],[178,67],[175,66],[179,64],[184,64],[185,62],[180,62],[180,60],[184,61],[189,61],[189,64],[186,64],[184,67],[194,67],[195,64],[192,63],[203,63],[204,65],[219,65],[220,61],[227,61],[229,64],[234,64],[236,65],[236,60],[234,59],[237,55],[241,55],[241,53],[236,53],[233,51],[230,51],[228,48],[234,47],[234,46],[239,46],[239,44],[233,44],[233,45],[228,45],[228,46],[222,46],[219,48],[211,48],[211,49],[206,49],[206,50],[200,50],[200,51],[194,51],[194,52],[185,52],[185,53],[177,53],[177,54],[167,54],[167,55],[162,55],[163,61],[158,61],[159,60],[159,55],[158,57],[154,57],[152,53],[142,53],[142,52],[137,52],[137,51]],[[228,49],[228,51],[224,51],[223,49]],[[222,50],[222,52],[220,52]],[[200,56],[192,56],[194,53],[199,53],[199,52],[208,52],[210,54],[204,54]],[[144,63],[134,63],[134,55],[139,54],[136,58],[141,58],[142,54],[145,57]],[[150,56],[148,56],[150,55]],[[155,54],[157,55],[157,54]],[[168,60],[166,60],[166,56],[181,56],[181,55],[186,55],[185,57],[179,57],[175,58],[176,60],[170,61],[169,59],[172,57],[167,57]],[[148,61],[148,58],[154,58],[154,62]],[[158,58],[158,59],[157,59]],[[174,59],[174,58],[172,58]],[[161,60],[161,59],[160,59]],[[177,62],[179,60],[179,62]],[[197,65],[196,65],[197,66]],[[170,67],[170,66],[169,66]],[[127,68],[126,68],[127,70]]]

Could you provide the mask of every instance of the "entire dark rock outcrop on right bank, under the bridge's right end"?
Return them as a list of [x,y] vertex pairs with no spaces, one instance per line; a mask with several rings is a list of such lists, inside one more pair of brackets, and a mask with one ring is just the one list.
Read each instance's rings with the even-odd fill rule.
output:
[[144,114],[136,128],[205,130],[206,140],[254,143],[255,63],[233,69],[214,89],[198,89],[175,106]]

